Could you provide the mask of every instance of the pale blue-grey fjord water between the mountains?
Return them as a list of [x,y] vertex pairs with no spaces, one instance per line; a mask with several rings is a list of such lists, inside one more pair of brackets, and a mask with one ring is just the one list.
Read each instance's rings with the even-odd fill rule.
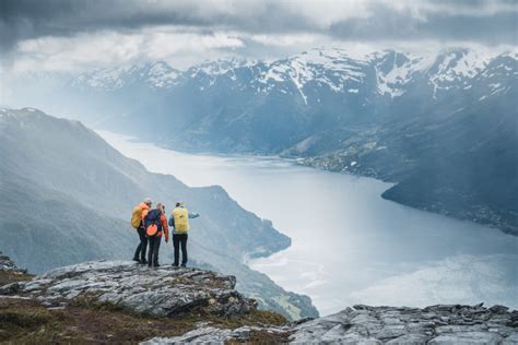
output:
[[248,264],[310,296],[321,314],[353,304],[518,308],[518,237],[382,200],[389,183],[275,157],[185,154],[99,134],[151,171],[189,186],[221,185],[271,219],[292,246]]

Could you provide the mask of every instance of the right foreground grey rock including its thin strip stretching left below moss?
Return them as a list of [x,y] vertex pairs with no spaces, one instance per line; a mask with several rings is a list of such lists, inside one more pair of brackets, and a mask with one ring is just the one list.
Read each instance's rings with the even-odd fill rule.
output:
[[518,344],[518,312],[494,306],[424,309],[355,306],[325,318],[282,328],[221,330],[203,326],[145,344],[248,342],[251,334],[284,335],[295,344]]

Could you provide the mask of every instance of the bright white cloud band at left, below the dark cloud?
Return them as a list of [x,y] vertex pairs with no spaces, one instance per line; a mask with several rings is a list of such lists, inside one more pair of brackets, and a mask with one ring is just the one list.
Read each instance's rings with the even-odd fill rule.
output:
[[[200,34],[172,27],[145,28],[139,33],[101,31],[71,37],[26,39],[16,47],[12,71],[60,70],[164,60],[177,68],[224,56],[222,49],[244,47],[227,33]],[[192,57],[198,56],[198,60]]]

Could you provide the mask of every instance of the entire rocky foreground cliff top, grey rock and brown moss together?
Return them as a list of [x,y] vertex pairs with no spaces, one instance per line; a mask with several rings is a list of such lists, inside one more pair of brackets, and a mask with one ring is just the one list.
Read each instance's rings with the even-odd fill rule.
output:
[[518,311],[354,306],[287,323],[210,271],[96,261],[31,277],[0,255],[0,342],[518,344]]

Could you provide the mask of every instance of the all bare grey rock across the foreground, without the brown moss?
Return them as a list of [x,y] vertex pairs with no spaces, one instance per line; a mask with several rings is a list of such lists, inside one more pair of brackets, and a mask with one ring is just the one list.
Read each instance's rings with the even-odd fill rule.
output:
[[[0,257],[0,273],[2,270],[19,269],[9,258]],[[0,284],[0,299],[37,301],[48,310],[86,300],[165,319],[198,316],[196,325],[175,332],[175,336],[156,333],[144,344],[518,344],[518,311],[504,306],[485,308],[482,304],[423,309],[360,305],[325,318],[276,326],[247,321],[215,324],[209,316],[250,320],[246,318],[258,312],[256,302],[236,292],[235,284],[235,277],[211,271],[94,261],[56,269],[28,282]]]

